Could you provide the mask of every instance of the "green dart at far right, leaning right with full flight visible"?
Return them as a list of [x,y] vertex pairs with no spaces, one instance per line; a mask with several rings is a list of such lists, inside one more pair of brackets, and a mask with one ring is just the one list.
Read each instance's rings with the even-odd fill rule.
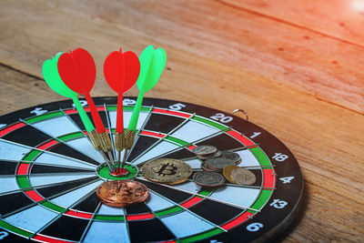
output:
[[121,169],[123,170],[126,161],[127,150],[133,146],[136,137],[136,125],[139,118],[140,108],[142,106],[144,94],[156,86],[163,69],[166,66],[166,52],[162,48],[154,49],[153,46],[147,46],[139,56],[140,73],[136,80],[136,86],[139,89],[139,95],[136,99],[136,106],[130,118],[129,125],[125,132],[124,146],[125,153]]

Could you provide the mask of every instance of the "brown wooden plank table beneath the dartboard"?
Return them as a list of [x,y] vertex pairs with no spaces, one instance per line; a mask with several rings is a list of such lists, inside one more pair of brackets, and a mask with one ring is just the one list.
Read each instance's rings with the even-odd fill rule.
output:
[[298,158],[304,206],[280,239],[364,241],[362,1],[1,1],[0,39],[0,115],[64,99],[41,73],[59,51],[86,48],[91,94],[115,96],[106,55],[164,47],[147,96],[243,108]]

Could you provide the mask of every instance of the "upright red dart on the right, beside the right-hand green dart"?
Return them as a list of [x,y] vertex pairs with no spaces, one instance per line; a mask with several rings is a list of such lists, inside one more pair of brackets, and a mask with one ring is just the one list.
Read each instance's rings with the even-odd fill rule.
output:
[[139,76],[139,59],[133,52],[122,53],[122,50],[110,53],[104,63],[104,76],[107,84],[118,94],[116,111],[115,148],[117,151],[118,169],[120,155],[124,149],[123,94],[134,84]]

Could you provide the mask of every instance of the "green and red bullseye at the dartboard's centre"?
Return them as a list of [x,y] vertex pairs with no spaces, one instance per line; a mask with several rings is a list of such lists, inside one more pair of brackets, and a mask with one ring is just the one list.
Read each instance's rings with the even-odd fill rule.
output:
[[126,162],[123,170],[120,168],[116,171],[111,171],[106,163],[102,163],[96,167],[97,176],[101,177],[103,180],[132,179],[137,176],[138,172],[138,168],[128,162]]

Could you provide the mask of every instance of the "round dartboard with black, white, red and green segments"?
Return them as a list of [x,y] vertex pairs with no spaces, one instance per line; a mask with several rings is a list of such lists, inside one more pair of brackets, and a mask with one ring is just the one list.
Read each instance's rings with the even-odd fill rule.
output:
[[[95,102],[108,131],[115,132],[116,97]],[[126,126],[135,103],[135,97],[124,99]],[[303,177],[296,158],[266,130],[216,109],[146,98],[127,177],[108,173],[70,100],[1,116],[0,126],[3,241],[246,242],[277,237],[298,213]],[[254,173],[256,183],[201,187],[192,174],[168,186],[138,172],[158,157],[182,159],[194,173],[201,171],[191,152],[198,145],[238,153],[238,166]],[[126,208],[102,204],[96,187],[125,178],[145,184],[147,200]]]

